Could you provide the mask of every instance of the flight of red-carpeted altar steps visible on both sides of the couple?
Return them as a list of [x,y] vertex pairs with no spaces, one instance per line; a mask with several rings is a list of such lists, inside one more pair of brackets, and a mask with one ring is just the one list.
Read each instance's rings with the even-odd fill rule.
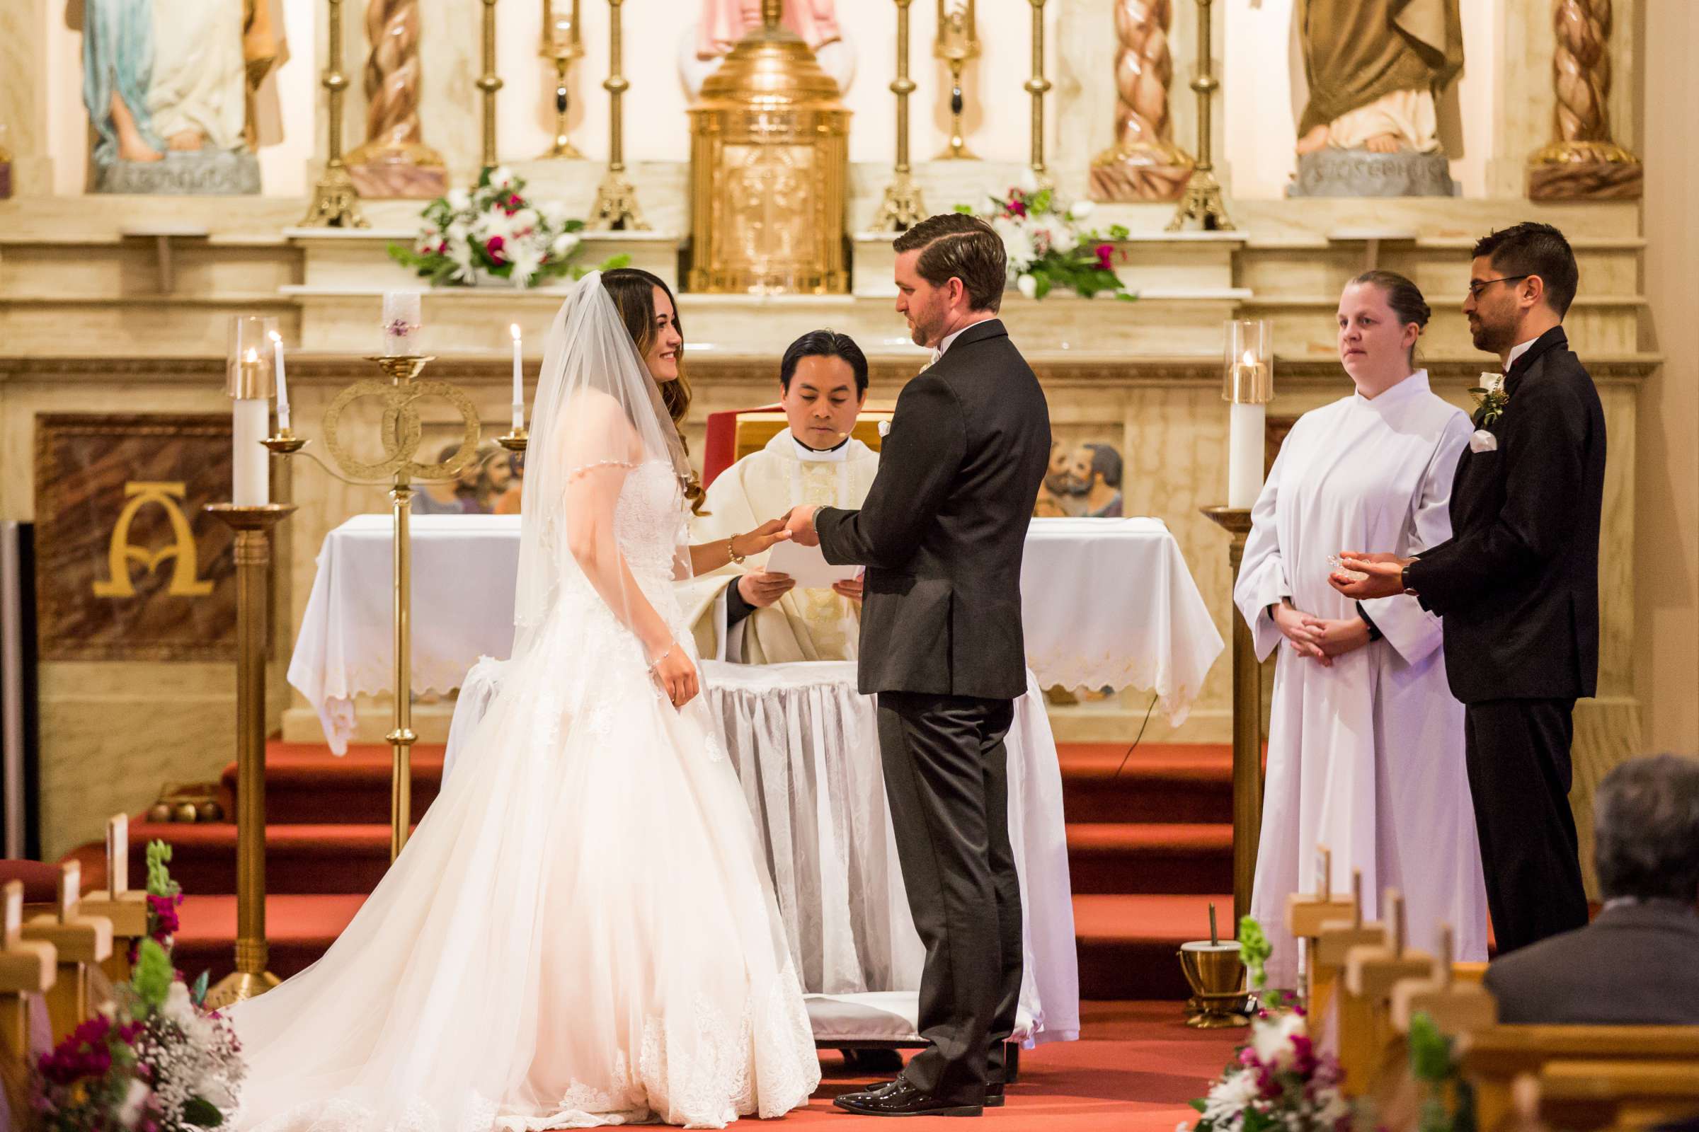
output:
[[[1225,747],[1064,745],[1062,796],[1074,884],[1081,996],[1172,1000],[1186,995],[1176,949],[1208,933],[1213,899],[1232,918],[1232,784]],[[1120,769],[1120,774],[1116,771]],[[272,971],[289,976],[325,952],[389,866],[389,748],[267,747],[267,935]],[[442,779],[442,748],[413,752],[413,813]],[[224,771],[234,813],[236,767]],[[175,849],[183,971],[231,969],[236,933],[236,827],[131,823],[131,884],[146,881],[141,845]],[[85,845],[87,884],[102,884],[100,845]]]

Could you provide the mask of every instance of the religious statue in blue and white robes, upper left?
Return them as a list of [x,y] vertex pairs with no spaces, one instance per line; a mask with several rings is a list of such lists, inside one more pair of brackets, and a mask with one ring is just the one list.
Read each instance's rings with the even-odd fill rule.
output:
[[274,2],[87,0],[93,192],[260,192],[251,93],[280,54]]

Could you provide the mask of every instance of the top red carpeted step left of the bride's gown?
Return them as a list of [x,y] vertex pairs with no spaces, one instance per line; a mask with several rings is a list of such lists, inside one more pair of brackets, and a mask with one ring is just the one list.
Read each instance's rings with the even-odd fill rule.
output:
[[[437,798],[442,786],[440,745],[413,748],[413,820]],[[348,747],[330,754],[323,743],[265,745],[265,818],[272,825],[389,825],[391,748],[387,743]],[[236,813],[236,764],[219,782],[224,813]]]

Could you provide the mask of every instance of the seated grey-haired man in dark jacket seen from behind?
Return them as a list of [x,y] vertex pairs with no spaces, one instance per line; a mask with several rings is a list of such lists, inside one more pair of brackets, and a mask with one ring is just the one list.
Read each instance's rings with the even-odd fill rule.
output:
[[1594,798],[1604,911],[1487,967],[1499,1022],[1699,1025],[1699,759],[1617,765]]

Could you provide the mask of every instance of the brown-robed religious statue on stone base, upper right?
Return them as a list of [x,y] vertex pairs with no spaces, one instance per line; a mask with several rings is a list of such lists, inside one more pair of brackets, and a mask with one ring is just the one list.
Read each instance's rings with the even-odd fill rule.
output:
[[1458,0],[1298,0],[1296,20],[1310,100],[1293,193],[1451,195],[1436,98],[1463,68]]

